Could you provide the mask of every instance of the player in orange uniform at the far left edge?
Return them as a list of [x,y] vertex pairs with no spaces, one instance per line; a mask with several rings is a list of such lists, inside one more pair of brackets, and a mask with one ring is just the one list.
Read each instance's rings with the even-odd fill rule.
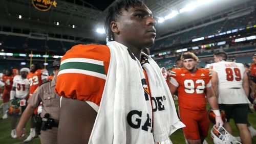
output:
[[10,92],[12,89],[13,78],[15,75],[12,73],[12,69],[6,70],[5,75],[3,75],[2,80],[5,83],[4,92],[3,92],[3,119],[6,119],[7,110],[9,108]]

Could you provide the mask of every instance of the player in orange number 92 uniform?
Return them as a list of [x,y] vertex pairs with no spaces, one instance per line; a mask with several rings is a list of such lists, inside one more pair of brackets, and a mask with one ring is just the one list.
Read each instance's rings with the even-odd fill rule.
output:
[[170,73],[170,92],[178,89],[179,114],[186,125],[183,132],[188,143],[203,143],[207,137],[209,120],[206,99],[216,114],[216,125],[223,125],[217,98],[211,87],[211,73],[208,69],[197,68],[198,57],[193,53],[181,56],[182,68]]

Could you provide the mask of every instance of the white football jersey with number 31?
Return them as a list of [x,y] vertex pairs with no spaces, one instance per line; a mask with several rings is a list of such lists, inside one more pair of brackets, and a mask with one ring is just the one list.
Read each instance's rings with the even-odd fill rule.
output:
[[24,94],[27,94],[29,92],[29,80],[28,79],[23,79],[22,76],[15,76],[13,78],[13,85],[15,86],[15,97],[16,98],[20,98],[22,97]]

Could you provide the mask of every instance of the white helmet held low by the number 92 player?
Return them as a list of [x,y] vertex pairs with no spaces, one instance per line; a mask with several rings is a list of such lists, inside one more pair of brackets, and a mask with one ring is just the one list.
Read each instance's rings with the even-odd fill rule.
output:
[[235,137],[229,134],[222,126],[217,128],[216,125],[214,125],[214,127],[212,127],[210,130],[210,133],[215,144],[241,143]]

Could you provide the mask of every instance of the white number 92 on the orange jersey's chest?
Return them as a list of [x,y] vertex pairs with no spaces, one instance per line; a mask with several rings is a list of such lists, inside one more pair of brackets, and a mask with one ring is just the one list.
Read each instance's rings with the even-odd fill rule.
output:
[[[201,84],[198,85],[196,88],[196,93],[201,94],[204,93],[204,88],[205,88],[205,83],[204,80],[196,80],[196,84]],[[195,92],[195,83],[193,80],[185,80],[184,81],[184,87],[185,87],[185,92],[186,93],[194,93]]]

